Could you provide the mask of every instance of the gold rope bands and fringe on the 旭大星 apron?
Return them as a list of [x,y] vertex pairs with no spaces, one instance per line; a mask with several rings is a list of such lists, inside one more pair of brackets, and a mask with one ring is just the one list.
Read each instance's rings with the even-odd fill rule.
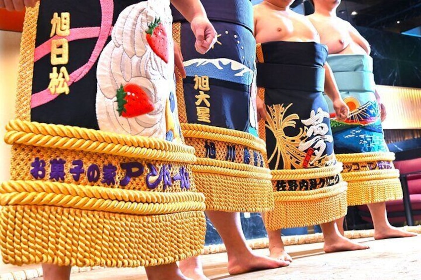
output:
[[[182,123],[186,142],[203,139],[244,145],[266,155],[266,144],[250,133]],[[196,188],[206,199],[206,209],[225,212],[264,212],[274,206],[272,175],[268,168],[243,163],[198,158],[192,167]]]

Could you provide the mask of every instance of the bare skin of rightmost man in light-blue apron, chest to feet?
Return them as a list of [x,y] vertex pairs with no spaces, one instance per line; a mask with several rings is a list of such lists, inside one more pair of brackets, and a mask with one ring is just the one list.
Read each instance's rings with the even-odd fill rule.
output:
[[[367,40],[347,21],[336,15],[341,0],[313,0],[314,14],[307,16],[318,30],[322,44],[329,48],[329,54],[362,54],[369,55],[371,48]],[[381,120],[386,118],[386,109],[381,103],[380,96],[375,92]],[[386,203],[369,204],[371,217],[374,224],[374,238],[384,239],[393,237],[409,237],[417,234],[400,230],[389,224],[386,212]],[[344,218],[338,220],[341,233],[344,232]]]

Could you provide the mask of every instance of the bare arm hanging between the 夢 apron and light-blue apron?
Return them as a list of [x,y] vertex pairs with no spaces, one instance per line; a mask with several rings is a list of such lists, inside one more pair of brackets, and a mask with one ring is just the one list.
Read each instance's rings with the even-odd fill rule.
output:
[[333,76],[332,69],[329,64],[325,63],[325,93],[332,100],[333,108],[335,109],[336,117],[339,119],[346,119],[348,117],[349,109],[339,93],[338,85]]

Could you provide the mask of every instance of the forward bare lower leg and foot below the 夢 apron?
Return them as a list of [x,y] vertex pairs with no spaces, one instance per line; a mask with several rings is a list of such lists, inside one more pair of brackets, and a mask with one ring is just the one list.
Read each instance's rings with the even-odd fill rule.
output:
[[326,253],[368,249],[368,246],[352,242],[350,239],[342,236],[335,221],[321,224],[320,227],[325,237],[323,249]]

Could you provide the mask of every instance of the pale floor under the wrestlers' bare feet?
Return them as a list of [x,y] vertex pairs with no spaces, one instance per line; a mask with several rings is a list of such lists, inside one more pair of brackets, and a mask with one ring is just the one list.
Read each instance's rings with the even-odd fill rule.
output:
[[[370,249],[326,254],[322,249],[323,243],[288,246],[287,251],[294,259],[289,267],[237,276],[228,275],[225,253],[206,255],[203,263],[205,274],[210,279],[218,280],[421,279],[421,235],[388,240],[363,238],[357,241],[369,245]],[[256,250],[256,253],[268,254],[268,250]],[[0,266],[0,272],[10,272],[10,269],[10,266]],[[117,279],[145,280],[146,277],[142,268],[99,269],[71,276],[71,280]]]

